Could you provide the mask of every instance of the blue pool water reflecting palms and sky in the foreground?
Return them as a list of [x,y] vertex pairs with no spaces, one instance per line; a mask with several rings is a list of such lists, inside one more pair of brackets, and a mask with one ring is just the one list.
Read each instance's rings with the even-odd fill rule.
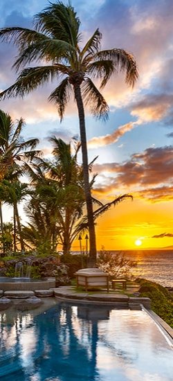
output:
[[1,314],[3,381],[172,381],[172,345],[145,311],[57,303]]

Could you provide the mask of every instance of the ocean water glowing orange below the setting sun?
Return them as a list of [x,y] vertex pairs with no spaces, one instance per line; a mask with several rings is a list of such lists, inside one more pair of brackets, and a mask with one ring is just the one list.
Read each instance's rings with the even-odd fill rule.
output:
[[137,266],[132,269],[136,278],[145,278],[165,287],[173,287],[173,250],[131,250],[123,253],[127,258],[136,261]]

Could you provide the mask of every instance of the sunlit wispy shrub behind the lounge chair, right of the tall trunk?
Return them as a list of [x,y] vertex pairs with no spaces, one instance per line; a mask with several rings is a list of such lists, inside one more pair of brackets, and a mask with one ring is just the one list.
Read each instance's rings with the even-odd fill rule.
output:
[[136,266],[136,262],[125,257],[122,251],[112,254],[102,247],[99,252],[97,265],[104,272],[113,278],[131,278],[131,269]]

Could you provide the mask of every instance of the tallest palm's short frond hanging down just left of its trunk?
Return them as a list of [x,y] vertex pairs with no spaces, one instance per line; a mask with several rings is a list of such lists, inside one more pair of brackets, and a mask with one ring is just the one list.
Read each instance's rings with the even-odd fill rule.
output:
[[54,101],[57,105],[57,112],[60,115],[61,121],[64,116],[65,107],[69,102],[71,91],[72,87],[69,82],[69,77],[66,77],[48,97],[48,100]]

